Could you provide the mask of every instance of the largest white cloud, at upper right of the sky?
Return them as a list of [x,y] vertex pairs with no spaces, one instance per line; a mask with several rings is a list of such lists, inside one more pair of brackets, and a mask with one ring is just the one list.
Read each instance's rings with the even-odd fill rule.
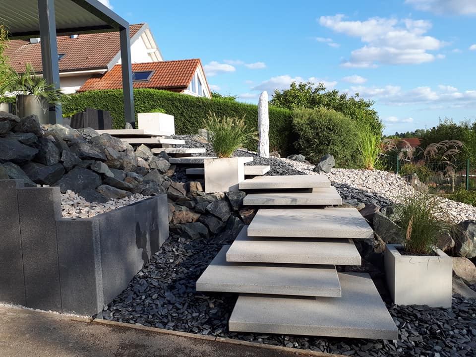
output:
[[360,38],[365,45],[351,52],[344,67],[370,68],[377,63],[417,64],[431,62],[436,51],[446,45],[425,35],[431,28],[426,20],[371,17],[365,21],[347,21],[342,14],[321,16],[321,26],[334,32]]

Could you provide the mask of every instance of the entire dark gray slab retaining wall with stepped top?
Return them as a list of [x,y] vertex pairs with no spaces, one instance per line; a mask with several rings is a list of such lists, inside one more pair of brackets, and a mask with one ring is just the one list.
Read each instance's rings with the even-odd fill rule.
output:
[[167,195],[61,218],[58,187],[0,180],[0,301],[92,315],[169,237]]

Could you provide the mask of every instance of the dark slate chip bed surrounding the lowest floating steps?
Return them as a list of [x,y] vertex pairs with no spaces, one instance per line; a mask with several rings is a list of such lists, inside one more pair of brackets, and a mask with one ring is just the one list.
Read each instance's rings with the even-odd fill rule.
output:
[[387,303],[398,341],[284,336],[228,331],[238,294],[195,291],[195,281],[230,237],[169,238],[97,317],[168,330],[352,356],[475,356],[476,300],[453,297],[452,309]]

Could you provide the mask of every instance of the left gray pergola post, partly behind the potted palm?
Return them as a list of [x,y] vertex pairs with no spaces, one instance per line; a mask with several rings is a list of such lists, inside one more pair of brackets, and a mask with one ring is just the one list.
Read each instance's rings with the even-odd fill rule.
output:
[[[58,44],[56,40],[55,0],[38,0],[40,21],[41,59],[43,78],[48,84],[60,88],[60,68],[58,64]],[[61,105],[50,105],[48,122],[62,124]]]

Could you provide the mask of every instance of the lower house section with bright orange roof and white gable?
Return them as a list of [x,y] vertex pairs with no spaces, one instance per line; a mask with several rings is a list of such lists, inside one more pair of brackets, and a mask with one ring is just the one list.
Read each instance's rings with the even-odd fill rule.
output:
[[[212,97],[202,63],[198,59],[133,63],[132,86],[163,89],[197,97]],[[89,78],[78,92],[120,88],[122,88],[122,73],[118,64],[102,75]]]

